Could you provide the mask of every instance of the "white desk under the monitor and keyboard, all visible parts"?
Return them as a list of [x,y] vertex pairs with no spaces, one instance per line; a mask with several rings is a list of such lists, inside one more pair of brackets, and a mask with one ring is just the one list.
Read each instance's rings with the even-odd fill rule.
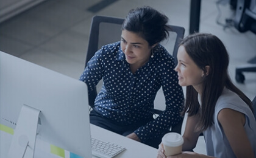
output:
[[[103,140],[105,142],[116,143],[126,148],[126,150],[123,151],[123,153],[120,153],[115,158],[157,157],[157,149],[152,148],[151,146],[144,145],[143,143],[121,136],[114,132],[107,131],[106,129],[100,128],[95,125],[91,125],[90,128],[91,128],[92,137]],[[11,139],[12,139],[11,134],[6,133],[4,131],[0,131],[0,140],[1,140],[0,141],[0,157],[1,158],[7,157]],[[63,157],[51,154],[50,151],[46,152],[46,150],[49,149],[47,147],[49,146],[49,143],[37,140],[36,146],[40,146],[41,148],[38,147],[35,149],[35,158],[43,158],[43,157],[63,158]],[[65,151],[65,153],[66,152],[67,151]]]

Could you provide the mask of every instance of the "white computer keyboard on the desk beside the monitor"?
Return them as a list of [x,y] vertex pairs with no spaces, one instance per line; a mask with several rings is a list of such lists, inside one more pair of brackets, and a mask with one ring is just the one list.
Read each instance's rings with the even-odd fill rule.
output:
[[103,142],[102,140],[91,138],[91,151],[93,156],[101,158],[112,158],[126,148],[110,142]]

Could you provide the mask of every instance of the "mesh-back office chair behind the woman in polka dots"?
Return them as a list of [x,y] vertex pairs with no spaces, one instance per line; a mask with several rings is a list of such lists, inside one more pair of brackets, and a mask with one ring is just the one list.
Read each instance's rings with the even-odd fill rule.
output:
[[[85,60],[85,67],[87,66],[88,61],[93,57],[94,53],[99,50],[102,46],[109,43],[114,43],[121,40],[121,26],[124,22],[123,18],[115,18],[110,16],[93,16],[91,20],[91,30],[88,42],[88,51]],[[161,44],[165,46],[168,52],[172,52],[172,56],[175,58],[177,64],[177,50],[179,47],[180,40],[184,36],[185,29],[179,26],[170,26],[169,30],[169,39],[163,41]],[[174,42],[172,42],[174,41]],[[98,91],[101,89],[102,85],[97,85],[97,88],[93,89],[93,92],[90,92],[89,105],[91,108],[94,106],[94,100]],[[155,114],[161,114],[161,110],[154,109]],[[172,132],[181,132],[183,119],[174,126]]]

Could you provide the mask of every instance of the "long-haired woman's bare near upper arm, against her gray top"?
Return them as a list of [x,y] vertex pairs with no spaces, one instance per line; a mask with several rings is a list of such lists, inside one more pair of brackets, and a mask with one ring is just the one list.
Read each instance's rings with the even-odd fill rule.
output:
[[245,115],[233,109],[222,109],[218,121],[229,140],[236,157],[254,157],[251,143],[244,130]]

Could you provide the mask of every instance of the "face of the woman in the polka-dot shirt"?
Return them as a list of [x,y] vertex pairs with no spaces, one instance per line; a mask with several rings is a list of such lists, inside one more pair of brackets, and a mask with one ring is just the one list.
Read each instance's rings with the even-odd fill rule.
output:
[[121,49],[126,55],[129,64],[141,67],[148,62],[151,56],[151,48],[148,41],[144,40],[136,33],[127,30],[122,31]]

